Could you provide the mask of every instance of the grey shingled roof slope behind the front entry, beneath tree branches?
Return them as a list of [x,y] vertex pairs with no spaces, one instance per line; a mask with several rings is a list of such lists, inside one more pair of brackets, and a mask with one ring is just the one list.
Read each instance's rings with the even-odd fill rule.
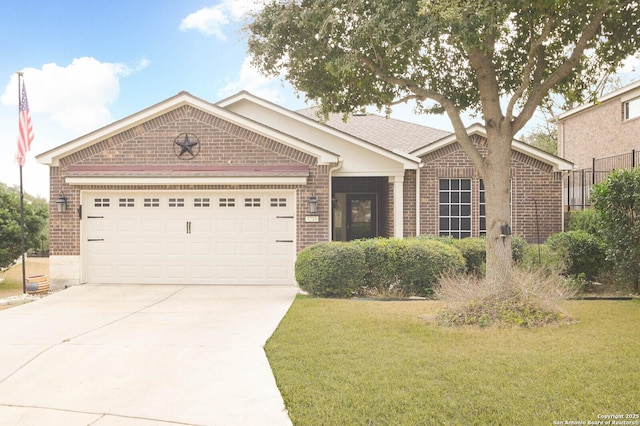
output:
[[451,132],[422,126],[377,114],[355,114],[345,122],[341,114],[330,114],[327,121],[321,121],[317,108],[306,108],[298,114],[320,121],[327,126],[357,136],[382,148],[406,153],[422,148]]

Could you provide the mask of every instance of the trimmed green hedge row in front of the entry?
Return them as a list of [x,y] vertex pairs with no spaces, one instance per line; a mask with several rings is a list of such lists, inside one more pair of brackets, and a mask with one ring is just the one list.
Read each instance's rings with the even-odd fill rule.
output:
[[429,296],[445,271],[465,269],[452,245],[423,239],[370,239],[319,243],[296,260],[300,288],[314,296],[352,297],[372,292]]

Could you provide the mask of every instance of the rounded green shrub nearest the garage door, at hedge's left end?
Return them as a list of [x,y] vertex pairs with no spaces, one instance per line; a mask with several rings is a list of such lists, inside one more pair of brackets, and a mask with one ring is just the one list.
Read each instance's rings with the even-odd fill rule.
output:
[[307,247],[298,254],[295,265],[300,288],[321,297],[351,297],[358,294],[365,273],[362,248],[341,242]]

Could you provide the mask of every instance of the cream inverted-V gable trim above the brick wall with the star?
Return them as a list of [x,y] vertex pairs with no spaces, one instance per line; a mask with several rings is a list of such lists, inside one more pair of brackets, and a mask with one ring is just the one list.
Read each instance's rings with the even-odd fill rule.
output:
[[166,114],[169,111],[175,110],[185,105],[200,109],[220,119],[247,128],[255,133],[276,140],[285,145],[291,146],[296,150],[302,151],[306,154],[318,158],[318,162],[321,164],[332,164],[340,161],[340,156],[338,154],[312,145],[309,142],[292,137],[291,135],[282,133],[276,129],[265,126],[261,123],[235,114],[231,111],[227,111],[224,108],[220,108],[217,105],[206,102],[184,91],[160,103],[150,106],[149,108],[146,108],[128,117],[111,123],[105,127],[102,127],[49,151],[38,154],[36,156],[36,159],[40,164],[57,166],[61,158],[69,156],[74,152],[80,151],[93,145],[94,143],[97,143],[104,139],[108,139],[112,136],[115,136],[116,134],[134,128],[146,121],[149,121],[153,118]]

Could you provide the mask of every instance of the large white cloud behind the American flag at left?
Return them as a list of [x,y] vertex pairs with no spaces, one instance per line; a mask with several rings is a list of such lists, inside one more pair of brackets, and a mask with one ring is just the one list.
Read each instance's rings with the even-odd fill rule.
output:
[[[147,60],[132,66],[100,62],[95,58],[74,59],[66,66],[55,63],[23,69],[29,97],[34,142],[27,154],[25,191],[41,196],[49,193],[48,168],[35,155],[113,121],[109,105],[118,99],[120,78],[147,67]],[[0,182],[17,185],[15,161],[18,133],[18,77],[13,74],[0,96]]]

